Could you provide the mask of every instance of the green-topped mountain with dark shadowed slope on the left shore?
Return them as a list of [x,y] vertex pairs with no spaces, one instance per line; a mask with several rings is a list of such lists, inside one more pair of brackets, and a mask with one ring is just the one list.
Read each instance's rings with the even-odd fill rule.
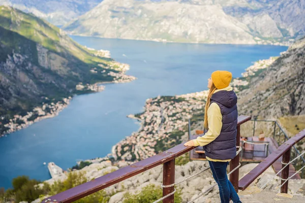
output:
[[[127,65],[104,55],[103,51],[82,47],[32,14],[1,6],[0,135],[10,122],[33,121],[60,108],[63,98],[99,90],[95,83],[129,80],[124,75]],[[13,124],[11,130],[16,127]]]

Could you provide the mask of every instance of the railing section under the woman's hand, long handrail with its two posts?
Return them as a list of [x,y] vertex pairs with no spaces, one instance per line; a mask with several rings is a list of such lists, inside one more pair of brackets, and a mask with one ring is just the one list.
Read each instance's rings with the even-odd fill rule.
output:
[[[239,116],[237,123],[237,138],[236,144],[239,146],[240,125],[251,120],[250,116]],[[139,162],[133,163],[129,166],[120,168],[119,170],[99,177],[92,181],[78,185],[74,188],[64,192],[55,194],[54,196],[45,198],[45,202],[73,202],[82,197],[88,196],[94,192],[100,191],[106,187],[114,185],[118,182],[124,181],[130,177],[140,174],[150,168],[163,164],[163,185],[170,185],[175,180],[175,158],[181,156],[194,149],[194,147],[186,147],[184,144],[177,145],[165,152],[161,152],[155,156],[151,156]],[[230,162],[230,170],[239,165],[239,155]],[[238,189],[238,170],[230,175],[230,181],[235,189]],[[163,188],[163,196],[174,191],[174,186]],[[174,195],[171,195],[163,200],[163,202],[174,202]]]

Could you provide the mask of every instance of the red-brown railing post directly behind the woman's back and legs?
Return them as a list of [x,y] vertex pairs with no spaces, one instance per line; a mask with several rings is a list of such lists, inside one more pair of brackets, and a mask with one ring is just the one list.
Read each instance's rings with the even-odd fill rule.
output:
[[[236,146],[240,145],[240,126],[237,126]],[[230,172],[239,165],[239,154],[230,161]],[[230,175],[230,182],[238,192],[239,168]]]

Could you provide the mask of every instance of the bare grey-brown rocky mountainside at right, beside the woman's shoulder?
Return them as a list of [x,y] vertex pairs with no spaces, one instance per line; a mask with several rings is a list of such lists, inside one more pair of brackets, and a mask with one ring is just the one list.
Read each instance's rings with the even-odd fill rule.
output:
[[238,93],[239,113],[277,119],[305,114],[305,38],[298,40]]

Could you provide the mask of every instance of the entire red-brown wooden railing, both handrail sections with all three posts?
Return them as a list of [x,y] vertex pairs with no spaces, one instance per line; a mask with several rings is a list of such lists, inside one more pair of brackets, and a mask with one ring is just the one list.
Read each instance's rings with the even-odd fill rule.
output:
[[[237,123],[237,137],[236,137],[236,146],[239,146],[240,139],[240,125],[250,121],[250,116],[239,116]],[[305,130],[298,133],[295,137],[286,141],[281,145],[277,151],[270,154],[264,161],[258,164],[250,173],[238,181],[239,171],[238,169],[230,175],[230,181],[234,186],[235,190],[238,192],[238,189],[245,190],[259,175],[261,175],[272,163],[277,159],[283,156],[283,163],[288,163],[290,160],[290,149],[298,141],[302,140],[305,137]],[[149,170],[150,168],[156,167],[163,164],[163,185],[172,185],[175,182],[175,158],[185,154],[194,147],[185,147],[184,144],[177,145],[167,151],[161,152],[155,156],[146,158],[139,162],[133,163],[129,166],[120,168],[119,170],[102,176],[100,178],[94,179],[87,183],[78,185],[74,188],[66,190],[62,193],[58,193],[54,196],[48,197],[42,201],[43,202],[73,202],[82,197],[90,195],[94,192],[100,191],[104,188],[107,188],[111,185],[114,185],[118,182],[126,180],[130,177],[133,177],[137,174],[140,174],[144,171]],[[238,168],[239,165],[239,155],[230,161],[230,171],[234,168]],[[283,164],[284,167],[286,164]],[[287,179],[289,175],[289,167],[284,168],[282,173],[282,179]],[[283,181],[282,181],[283,183]],[[164,187],[163,196],[168,195],[174,191],[174,186]],[[281,187],[281,191],[287,193],[288,191],[288,181]],[[171,195],[165,199],[163,202],[173,203],[174,195]]]

